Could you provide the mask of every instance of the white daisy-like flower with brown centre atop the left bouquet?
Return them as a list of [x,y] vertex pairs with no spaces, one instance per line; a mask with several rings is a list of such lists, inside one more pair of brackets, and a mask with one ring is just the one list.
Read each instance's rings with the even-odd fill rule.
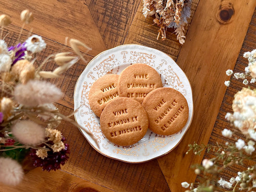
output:
[[30,36],[25,42],[27,50],[31,51],[32,53],[41,52],[43,49],[46,48],[46,43],[41,36]]

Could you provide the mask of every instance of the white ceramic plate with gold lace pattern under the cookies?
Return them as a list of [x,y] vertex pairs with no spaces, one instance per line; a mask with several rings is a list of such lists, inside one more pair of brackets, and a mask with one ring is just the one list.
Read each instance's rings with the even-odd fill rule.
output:
[[[136,144],[118,146],[111,143],[100,130],[99,118],[88,104],[91,85],[107,73],[120,74],[131,63],[146,63],[161,76],[163,86],[171,87],[183,94],[188,102],[189,116],[181,132],[173,135],[158,135],[150,130]],[[180,67],[167,54],[153,48],[129,44],[106,50],[89,62],[77,80],[74,90],[74,109],[79,108],[75,119],[80,126],[91,132],[96,142],[82,129],[87,141],[102,155],[129,163],[140,163],[169,153],[177,146],[189,128],[193,117],[193,99],[190,83]]]

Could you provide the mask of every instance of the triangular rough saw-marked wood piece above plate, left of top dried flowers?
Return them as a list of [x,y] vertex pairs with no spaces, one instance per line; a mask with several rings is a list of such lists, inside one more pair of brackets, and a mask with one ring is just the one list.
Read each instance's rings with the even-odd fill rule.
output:
[[85,0],[106,47],[122,45],[140,0]]

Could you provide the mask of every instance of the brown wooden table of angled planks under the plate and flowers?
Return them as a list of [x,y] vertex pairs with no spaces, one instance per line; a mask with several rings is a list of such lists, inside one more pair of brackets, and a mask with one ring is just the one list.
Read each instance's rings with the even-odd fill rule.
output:
[[[218,16],[225,5],[233,9],[228,22]],[[71,50],[64,45],[66,36],[92,48],[85,54],[88,61],[106,49],[129,43],[167,53],[186,73],[195,108],[182,142],[167,155],[139,164],[99,154],[75,126],[62,122],[60,130],[70,144],[71,154],[61,170],[46,172],[35,168],[20,185],[1,185],[0,192],[181,192],[181,182],[200,180],[190,167],[201,163],[208,154],[185,153],[188,144],[224,139],[221,131],[230,126],[224,116],[232,110],[232,96],[243,86],[232,80],[227,89],[224,81],[229,77],[225,71],[243,71],[247,65],[243,53],[256,48],[256,0],[192,0],[192,16],[183,46],[173,30],[167,32],[165,41],[156,40],[158,27],[151,25],[152,18],[143,17],[142,0],[0,0],[0,7],[0,13],[12,17],[8,43],[18,38],[20,12],[29,9],[34,13],[33,33],[42,36],[48,45],[42,58],[52,52]],[[31,27],[25,25],[24,34]],[[63,78],[52,81],[65,93],[58,103],[63,114],[73,111],[74,86],[84,69],[85,63],[81,61]],[[232,172],[235,171],[230,170],[228,175]]]

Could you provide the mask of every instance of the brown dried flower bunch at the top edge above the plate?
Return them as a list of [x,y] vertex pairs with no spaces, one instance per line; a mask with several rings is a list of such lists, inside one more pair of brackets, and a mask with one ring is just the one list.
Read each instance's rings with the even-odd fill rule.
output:
[[180,44],[185,42],[185,26],[191,15],[191,0],[143,0],[143,15],[154,16],[158,37],[165,40],[167,28],[174,28]]

